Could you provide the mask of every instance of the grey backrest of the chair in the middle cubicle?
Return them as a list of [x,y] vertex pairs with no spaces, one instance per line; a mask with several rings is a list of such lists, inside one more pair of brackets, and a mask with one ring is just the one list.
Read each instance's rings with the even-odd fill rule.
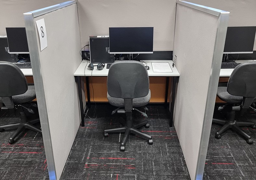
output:
[[138,61],[115,62],[109,68],[107,87],[111,97],[145,97],[149,92],[147,69]]

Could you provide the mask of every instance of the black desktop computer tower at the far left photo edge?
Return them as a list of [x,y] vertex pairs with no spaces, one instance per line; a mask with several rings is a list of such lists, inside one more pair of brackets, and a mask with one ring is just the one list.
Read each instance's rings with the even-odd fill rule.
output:
[[0,37],[0,61],[7,61],[16,63],[16,54],[9,54],[7,51],[8,41],[7,37]]

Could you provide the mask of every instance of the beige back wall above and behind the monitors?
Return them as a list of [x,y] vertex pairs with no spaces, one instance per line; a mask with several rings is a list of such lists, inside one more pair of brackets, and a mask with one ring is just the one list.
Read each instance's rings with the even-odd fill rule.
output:
[[[23,13],[66,0],[0,0],[0,35],[6,27],[24,27]],[[229,26],[256,26],[256,0],[188,0],[229,11]],[[175,0],[78,0],[82,46],[109,27],[153,26],[154,51],[173,50]],[[192,27],[191,27],[192,28]],[[254,43],[256,50],[256,42]]]

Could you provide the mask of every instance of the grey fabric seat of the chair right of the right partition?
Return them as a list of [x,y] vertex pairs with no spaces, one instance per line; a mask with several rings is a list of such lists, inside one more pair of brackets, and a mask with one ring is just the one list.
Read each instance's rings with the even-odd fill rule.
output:
[[[225,102],[229,103],[242,103],[243,102],[243,96],[234,96],[227,92],[227,87],[218,87],[217,90],[217,96]],[[254,102],[256,102],[256,98],[254,99]]]

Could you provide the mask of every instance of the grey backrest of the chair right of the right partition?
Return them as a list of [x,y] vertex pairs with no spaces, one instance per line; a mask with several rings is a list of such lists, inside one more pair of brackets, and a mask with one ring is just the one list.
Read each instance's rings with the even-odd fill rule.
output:
[[235,96],[256,97],[256,62],[238,65],[230,75],[227,91]]

